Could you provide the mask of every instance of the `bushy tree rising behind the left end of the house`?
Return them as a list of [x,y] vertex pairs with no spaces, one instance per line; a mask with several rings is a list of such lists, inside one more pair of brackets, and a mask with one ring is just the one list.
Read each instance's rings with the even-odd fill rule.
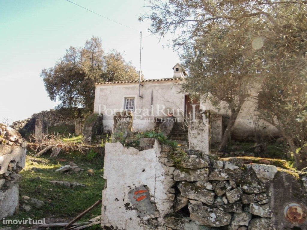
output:
[[58,107],[94,106],[95,82],[138,80],[138,72],[120,52],[105,53],[101,39],[92,37],[83,48],[70,47],[54,67],[43,69],[41,77],[49,98]]

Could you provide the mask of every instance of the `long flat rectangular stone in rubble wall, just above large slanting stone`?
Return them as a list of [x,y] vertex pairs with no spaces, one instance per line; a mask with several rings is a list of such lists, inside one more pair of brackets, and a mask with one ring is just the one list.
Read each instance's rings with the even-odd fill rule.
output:
[[180,171],[176,169],[173,173],[175,181],[208,181],[208,169],[197,169],[197,170],[188,170]]

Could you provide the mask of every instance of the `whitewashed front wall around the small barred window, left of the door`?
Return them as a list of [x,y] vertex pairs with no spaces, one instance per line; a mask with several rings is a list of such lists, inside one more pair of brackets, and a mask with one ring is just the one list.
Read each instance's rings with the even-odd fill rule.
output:
[[[103,115],[104,130],[111,131],[113,126],[113,115],[110,115],[110,110],[102,111],[105,107],[107,109],[124,109],[124,98],[135,97],[135,110],[133,119],[133,129],[135,131],[152,130],[154,127],[153,118],[165,117],[164,114],[158,110],[165,106],[165,113],[167,109],[185,109],[185,95],[180,93],[180,81],[170,82],[143,82],[141,86],[141,97],[138,96],[138,83],[126,84],[106,84],[96,86],[94,113],[99,113],[100,110]],[[103,106],[105,105],[105,107]],[[153,108],[153,109],[152,109]],[[142,109],[149,113],[149,116],[144,116],[140,119],[137,115],[138,110]],[[152,112],[153,110],[153,112]],[[183,118],[183,115],[175,116]]]

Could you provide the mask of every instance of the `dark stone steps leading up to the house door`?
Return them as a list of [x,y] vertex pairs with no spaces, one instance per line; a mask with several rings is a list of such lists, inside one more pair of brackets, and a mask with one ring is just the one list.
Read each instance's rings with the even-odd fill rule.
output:
[[175,122],[169,139],[177,141],[180,148],[188,148],[188,128],[182,122]]

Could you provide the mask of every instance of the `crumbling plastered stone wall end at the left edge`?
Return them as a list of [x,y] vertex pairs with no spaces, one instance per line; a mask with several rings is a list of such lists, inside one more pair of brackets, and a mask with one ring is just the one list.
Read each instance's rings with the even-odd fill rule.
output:
[[18,209],[21,175],[27,143],[13,128],[0,124],[0,219]]

